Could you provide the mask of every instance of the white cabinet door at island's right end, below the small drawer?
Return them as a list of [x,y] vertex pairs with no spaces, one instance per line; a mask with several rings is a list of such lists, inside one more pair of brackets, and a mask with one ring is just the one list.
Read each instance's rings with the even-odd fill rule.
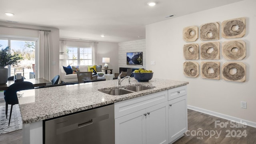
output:
[[168,101],[169,104],[169,142],[188,130],[187,95]]

